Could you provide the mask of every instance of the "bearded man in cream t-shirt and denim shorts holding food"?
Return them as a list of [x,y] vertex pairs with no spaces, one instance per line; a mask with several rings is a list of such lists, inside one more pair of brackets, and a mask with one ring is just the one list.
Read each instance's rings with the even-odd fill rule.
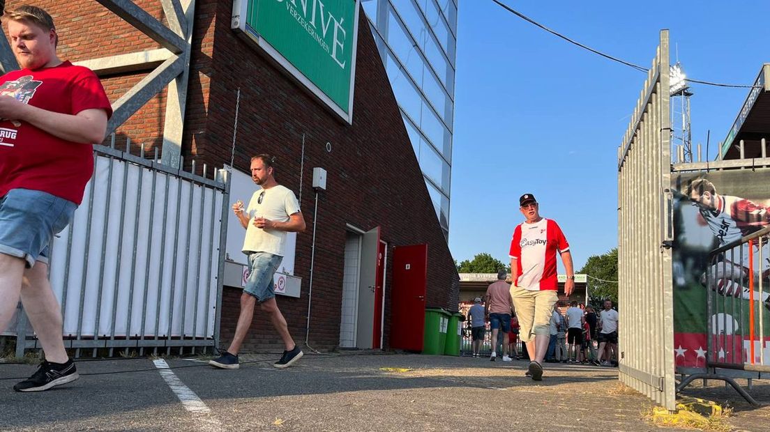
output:
[[249,331],[257,303],[269,316],[270,322],[276,327],[283,344],[286,345],[280,360],[273,366],[282,369],[289,367],[303,355],[291,337],[286,318],[276,303],[273,274],[278,270],[285,254],[286,233],[304,231],[305,219],[294,192],[278,184],[273,177],[274,163],[275,158],[270,155],[256,155],[251,158],[251,178],[262,188],[254,192],[246,211],[243,211],[242,201],[233,204],[233,211],[243,228],[246,228],[243,253],[249,256],[249,277],[241,294],[241,310],[233,342],[222,356],[209,361],[214,367],[239,367],[238,351]]

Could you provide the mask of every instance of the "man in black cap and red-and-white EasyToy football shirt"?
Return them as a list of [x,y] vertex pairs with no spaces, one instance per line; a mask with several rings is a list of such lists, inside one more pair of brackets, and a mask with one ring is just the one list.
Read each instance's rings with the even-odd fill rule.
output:
[[527,352],[534,353],[530,354],[527,374],[539,381],[543,379],[542,363],[551,338],[551,310],[558,300],[557,252],[567,271],[567,297],[574,290],[574,271],[567,238],[555,221],[541,218],[534,195],[521,195],[519,206],[525,221],[517,225],[511,239],[511,297],[521,326],[519,337],[527,344]]

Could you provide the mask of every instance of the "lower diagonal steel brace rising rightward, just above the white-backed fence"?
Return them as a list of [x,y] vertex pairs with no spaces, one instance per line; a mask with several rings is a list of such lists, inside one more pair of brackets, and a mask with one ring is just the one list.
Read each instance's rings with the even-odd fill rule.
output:
[[169,58],[115,101],[112,104],[113,113],[107,124],[106,135],[112,134],[124,121],[139,111],[139,108],[142,108],[147,101],[162,91],[172,79],[181,74],[184,65],[183,57]]

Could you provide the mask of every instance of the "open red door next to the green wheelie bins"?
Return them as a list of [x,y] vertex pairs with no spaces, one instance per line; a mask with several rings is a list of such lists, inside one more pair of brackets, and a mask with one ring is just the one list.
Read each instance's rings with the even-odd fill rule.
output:
[[390,347],[423,351],[428,245],[393,249]]

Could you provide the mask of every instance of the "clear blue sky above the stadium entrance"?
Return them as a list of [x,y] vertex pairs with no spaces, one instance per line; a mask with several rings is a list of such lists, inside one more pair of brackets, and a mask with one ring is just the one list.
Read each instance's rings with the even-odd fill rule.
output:
[[[649,68],[661,28],[688,78],[753,84],[770,62],[770,2],[504,2],[567,37]],[[617,149],[646,75],[544,32],[491,0],[459,2],[450,249],[507,262],[531,192],[576,270],[618,244]],[[710,154],[746,88],[692,85],[692,142]],[[561,269],[561,263],[560,263]]]

